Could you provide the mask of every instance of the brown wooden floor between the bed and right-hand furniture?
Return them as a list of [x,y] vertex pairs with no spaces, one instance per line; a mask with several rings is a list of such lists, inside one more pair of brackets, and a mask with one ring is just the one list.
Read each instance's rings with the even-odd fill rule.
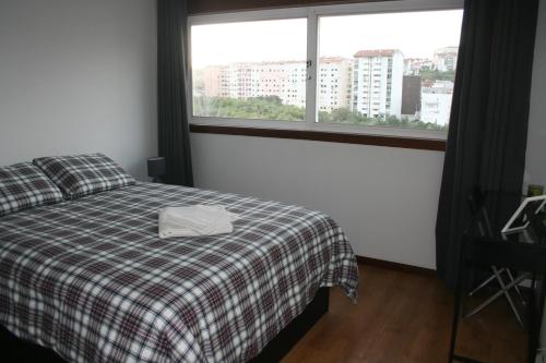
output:
[[[359,269],[358,303],[331,289],[330,312],[283,362],[447,362],[451,291],[434,276]],[[459,337],[458,354],[495,363],[525,361],[526,336],[502,300],[464,319]]]

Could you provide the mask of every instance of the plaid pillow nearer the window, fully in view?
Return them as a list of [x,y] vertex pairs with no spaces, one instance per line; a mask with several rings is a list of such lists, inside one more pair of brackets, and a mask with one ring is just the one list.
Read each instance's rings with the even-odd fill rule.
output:
[[33,162],[69,199],[135,183],[131,176],[103,154],[51,156],[34,159]]

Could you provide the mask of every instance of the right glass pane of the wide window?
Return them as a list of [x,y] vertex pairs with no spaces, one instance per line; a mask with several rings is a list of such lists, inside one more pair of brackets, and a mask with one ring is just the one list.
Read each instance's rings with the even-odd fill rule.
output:
[[320,17],[319,121],[447,130],[462,15]]

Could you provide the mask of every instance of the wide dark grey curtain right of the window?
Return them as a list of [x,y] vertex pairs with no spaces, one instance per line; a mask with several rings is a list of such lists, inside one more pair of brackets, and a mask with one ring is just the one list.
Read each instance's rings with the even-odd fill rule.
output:
[[438,275],[449,285],[472,187],[521,193],[537,8],[537,0],[464,4],[436,225]]

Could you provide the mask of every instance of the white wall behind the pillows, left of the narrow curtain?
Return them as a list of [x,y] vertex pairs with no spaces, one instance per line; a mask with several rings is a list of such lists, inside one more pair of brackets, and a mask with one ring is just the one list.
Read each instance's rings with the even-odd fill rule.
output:
[[157,153],[154,0],[0,0],[0,166]]

